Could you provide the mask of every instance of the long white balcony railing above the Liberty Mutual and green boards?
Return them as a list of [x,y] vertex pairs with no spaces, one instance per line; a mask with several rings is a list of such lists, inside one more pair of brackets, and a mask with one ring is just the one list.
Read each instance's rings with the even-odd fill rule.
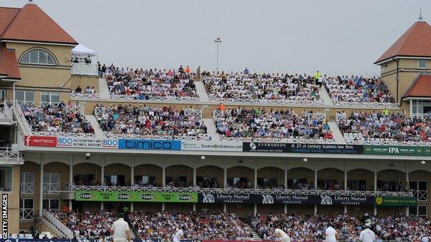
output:
[[297,195],[352,195],[352,196],[413,196],[410,192],[383,191],[343,191],[343,190],[285,190],[260,188],[144,188],[144,187],[113,187],[102,185],[73,185],[72,191],[94,192],[215,192],[223,194],[297,194]]

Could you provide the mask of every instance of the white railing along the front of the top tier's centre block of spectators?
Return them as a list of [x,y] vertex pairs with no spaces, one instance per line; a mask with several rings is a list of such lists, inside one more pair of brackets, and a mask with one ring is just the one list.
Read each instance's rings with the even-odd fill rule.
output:
[[301,105],[322,105],[325,102],[322,99],[307,100],[301,99],[224,99],[220,97],[209,97],[209,101],[216,103],[247,103],[247,104],[301,104]]

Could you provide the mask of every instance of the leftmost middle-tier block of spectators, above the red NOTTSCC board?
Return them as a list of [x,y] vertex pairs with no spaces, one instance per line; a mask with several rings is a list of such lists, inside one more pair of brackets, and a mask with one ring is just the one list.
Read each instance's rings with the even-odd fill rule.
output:
[[[67,105],[73,107],[70,101]],[[66,104],[61,102],[41,108],[23,106],[21,110],[31,130],[35,132],[94,133],[93,126],[84,114],[75,112],[73,108],[65,112],[65,106]]]

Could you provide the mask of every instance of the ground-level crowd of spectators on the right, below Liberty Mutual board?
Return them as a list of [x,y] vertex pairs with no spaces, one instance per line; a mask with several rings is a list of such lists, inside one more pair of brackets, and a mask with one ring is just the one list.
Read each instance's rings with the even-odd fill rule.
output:
[[343,241],[358,241],[365,221],[372,222],[372,230],[379,237],[377,241],[421,241],[431,233],[431,220],[421,216],[354,216],[331,214],[257,214],[249,215],[251,226],[264,240],[275,240],[274,230],[281,228],[288,232],[292,241],[324,241],[325,229],[329,223],[341,235]]

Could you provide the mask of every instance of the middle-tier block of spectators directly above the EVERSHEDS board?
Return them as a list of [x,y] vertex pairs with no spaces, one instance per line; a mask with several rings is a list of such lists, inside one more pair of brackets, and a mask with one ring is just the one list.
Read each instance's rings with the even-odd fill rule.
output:
[[328,123],[314,118],[319,114],[310,114],[305,110],[296,114],[291,109],[228,108],[223,117],[215,117],[215,123],[224,137],[333,139]]

